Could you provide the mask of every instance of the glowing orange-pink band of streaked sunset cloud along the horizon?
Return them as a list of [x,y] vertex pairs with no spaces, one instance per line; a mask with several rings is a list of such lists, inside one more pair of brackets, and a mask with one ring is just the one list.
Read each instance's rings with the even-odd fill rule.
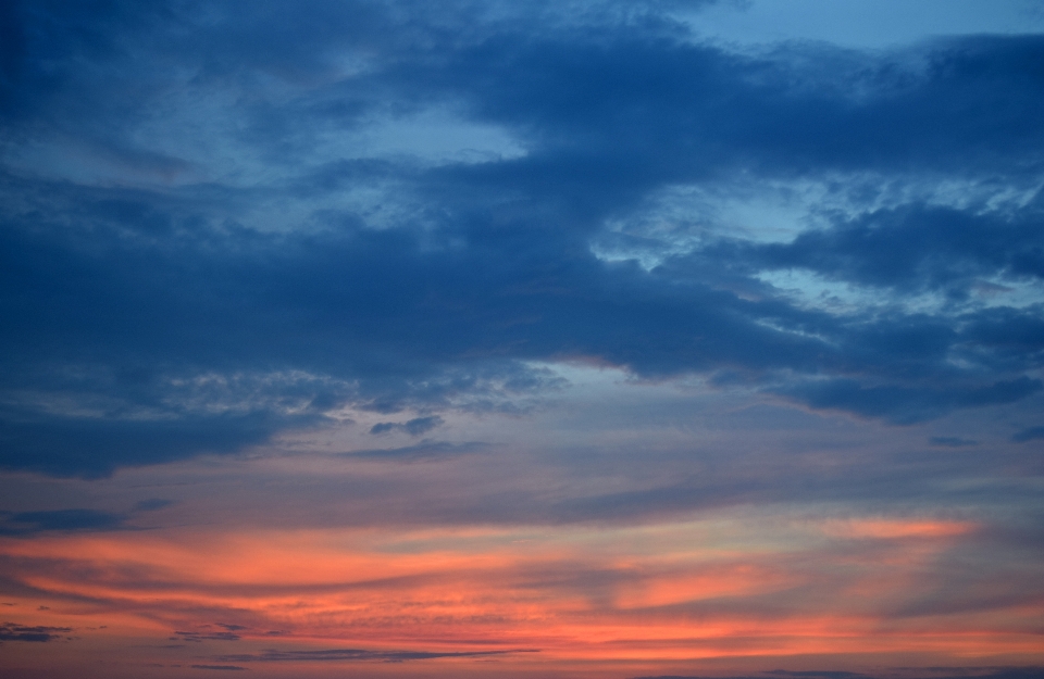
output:
[[[121,532],[8,538],[0,552],[5,576],[39,593],[18,606],[25,623],[96,637],[109,625],[220,641],[222,624],[244,642],[539,649],[559,659],[1037,653],[1042,602],[888,615],[974,529],[825,520],[794,528],[800,539],[785,548],[755,530],[742,549],[693,525],[584,539],[569,528],[542,539],[534,529]],[[49,609],[29,611],[45,600]]]

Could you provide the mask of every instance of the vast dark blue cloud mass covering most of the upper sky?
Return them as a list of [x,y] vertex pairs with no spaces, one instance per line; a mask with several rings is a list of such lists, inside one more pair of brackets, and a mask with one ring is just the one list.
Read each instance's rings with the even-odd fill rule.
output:
[[[904,424],[1036,393],[1040,301],[974,290],[1044,277],[1040,192],[880,208],[854,180],[847,213],[791,242],[661,242],[651,268],[592,242],[672,186],[1028,190],[1044,38],[738,54],[669,5],[4,4],[0,465],[100,476],[344,405],[504,407],[562,360]],[[522,151],[340,158],[321,134],[434,110]],[[357,190],[385,197],[338,202]],[[809,307],[758,278],[778,271],[895,303]]]

